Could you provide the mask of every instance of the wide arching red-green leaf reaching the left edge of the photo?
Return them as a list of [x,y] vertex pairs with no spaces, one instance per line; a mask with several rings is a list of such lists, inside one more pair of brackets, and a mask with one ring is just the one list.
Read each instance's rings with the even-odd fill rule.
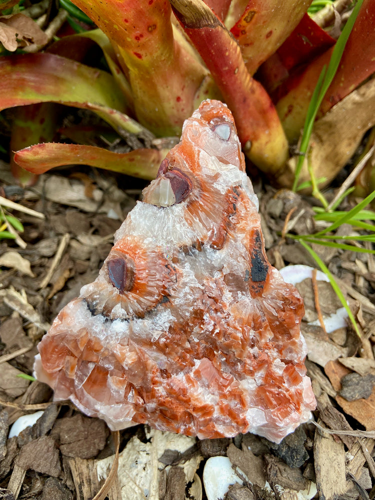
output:
[[113,77],[55,54],[37,53],[0,58],[0,110],[58,102],[95,111],[120,134],[147,131],[129,118],[126,101]]

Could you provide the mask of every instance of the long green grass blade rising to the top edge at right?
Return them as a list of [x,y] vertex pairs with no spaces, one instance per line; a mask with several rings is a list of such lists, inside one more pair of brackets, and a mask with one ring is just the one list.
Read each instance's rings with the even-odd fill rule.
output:
[[323,66],[321,73],[319,75],[318,81],[316,83],[316,87],[312,93],[312,97],[310,100],[310,104],[308,106],[306,119],[305,119],[304,126],[303,126],[302,138],[301,138],[300,152],[302,153],[302,155],[298,157],[297,164],[295,167],[294,181],[293,181],[293,186],[292,186],[293,191],[296,190],[296,187],[298,184],[298,178],[299,178],[300,171],[302,169],[304,154],[306,154],[306,151],[308,148],[308,144],[310,141],[310,136],[311,136],[311,132],[312,132],[313,123],[314,123],[314,120],[316,117],[316,113],[317,113],[317,111],[320,107],[320,104],[324,98],[324,95],[325,95],[326,91],[328,90],[328,87],[331,84],[333,77],[337,71],[338,64],[340,62],[343,50],[345,48],[345,44],[347,42],[350,31],[353,27],[354,21],[358,15],[358,12],[359,12],[359,9],[360,9],[362,3],[363,3],[363,0],[358,0],[355,7],[353,8],[353,11],[352,11],[350,17],[346,21],[346,24],[345,24],[344,28],[342,29],[342,32],[334,45],[328,66],[327,67]]

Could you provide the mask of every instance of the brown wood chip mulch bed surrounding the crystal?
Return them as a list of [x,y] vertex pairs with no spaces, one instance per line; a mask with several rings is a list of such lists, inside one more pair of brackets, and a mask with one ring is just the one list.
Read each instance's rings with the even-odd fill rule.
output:
[[[53,403],[45,384],[17,375],[32,374],[41,336],[80,287],[96,277],[142,182],[80,169],[44,174],[34,187],[19,190],[11,187],[5,163],[0,179],[7,197],[44,215],[13,211],[25,227],[20,236],[26,244],[0,241],[0,259],[6,254],[10,259],[2,261],[0,273],[0,498],[119,500],[121,491],[129,500],[211,498],[202,486],[211,456],[227,456],[241,478],[229,488],[227,500],[301,498],[298,492],[310,481],[322,499],[375,496],[373,255],[314,246],[339,280],[360,338],[349,324],[332,332],[322,328],[319,318],[341,307],[329,283],[307,278],[297,285],[306,308],[302,331],[317,425],[301,425],[278,445],[251,434],[201,441],[165,438],[142,425],[110,433],[103,421],[82,415],[71,403]],[[312,218],[314,201],[263,188],[260,181],[255,189],[271,264],[316,267],[301,245],[280,235],[289,215],[290,232],[319,229]],[[43,411],[37,422],[8,438],[12,423],[35,411]],[[273,492],[262,487],[264,480]],[[101,496],[95,496],[103,484]]]

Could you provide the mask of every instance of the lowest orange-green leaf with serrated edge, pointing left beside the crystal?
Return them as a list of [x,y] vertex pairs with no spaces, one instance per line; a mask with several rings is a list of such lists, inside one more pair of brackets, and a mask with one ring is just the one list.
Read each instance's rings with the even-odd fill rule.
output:
[[14,161],[25,170],[37,174],[55,166],[83,164],[153,179],[167,151],[143,148],[128,153],[115,153],[96,146],[47,142],[17,151]]

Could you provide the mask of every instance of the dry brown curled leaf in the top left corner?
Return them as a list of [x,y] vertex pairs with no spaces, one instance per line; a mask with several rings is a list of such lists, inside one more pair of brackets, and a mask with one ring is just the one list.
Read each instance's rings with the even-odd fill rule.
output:
[[13,52],[18,47],[31,43],[43,44],[48,40],[44,31],[34,20],[22,13],[0,16],[0,41]]

